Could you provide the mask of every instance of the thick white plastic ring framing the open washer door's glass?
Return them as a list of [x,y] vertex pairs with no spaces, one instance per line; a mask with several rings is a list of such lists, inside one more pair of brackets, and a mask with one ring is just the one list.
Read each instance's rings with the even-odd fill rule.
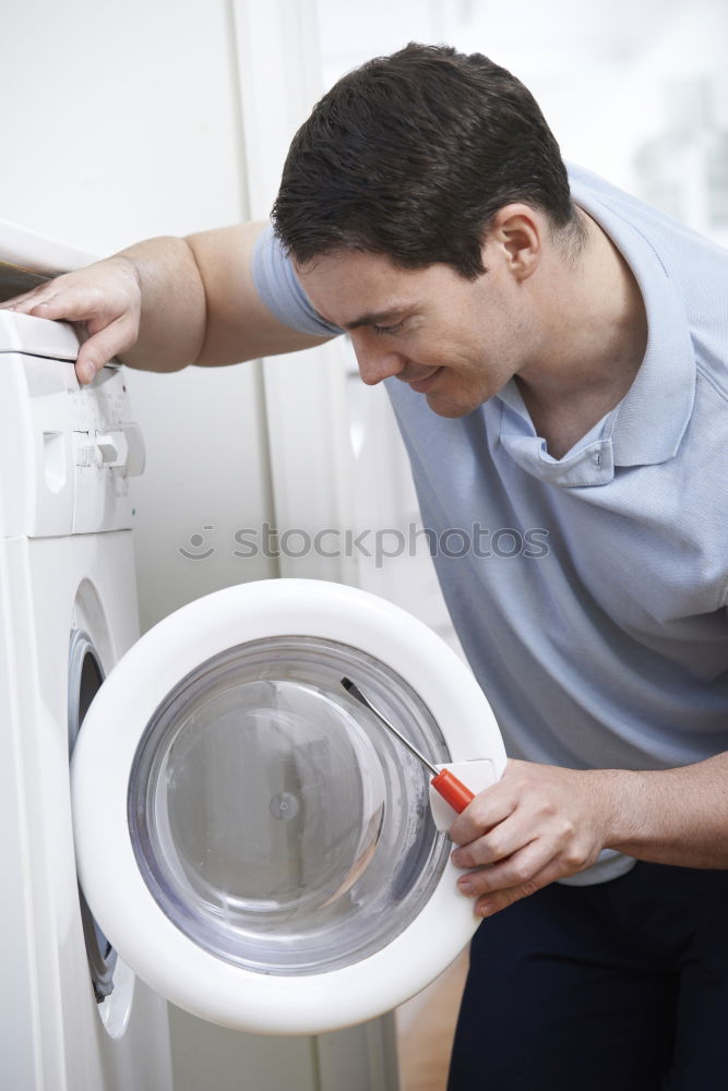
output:
[[212,656],[282,635],[337,640],[385,661],[430,708],[453,760],[490,758],[496,776],[501,775],[503,744],[480,687],[421,622],[339,584],[242,584],[198,599],[150,630],[94,698],[72,763],[76,860],[85,897],[106,935],[158,993],[223,1026],[319,1033],[390,1010],[462,950],[478,921],[472,899],[456,889],[460,873],[453,865],[446,864],[419,915],[381,950],[329,972],[267,975],[202,950],[165,916],[136,865],[127,820],[136,746],[160,702]]

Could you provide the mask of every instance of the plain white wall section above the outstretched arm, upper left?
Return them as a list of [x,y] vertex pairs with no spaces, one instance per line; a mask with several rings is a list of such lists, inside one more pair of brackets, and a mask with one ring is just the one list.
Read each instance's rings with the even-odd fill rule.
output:
[[238,218],[229,24],[225,0],[3,5],[2,216],[92,253]]

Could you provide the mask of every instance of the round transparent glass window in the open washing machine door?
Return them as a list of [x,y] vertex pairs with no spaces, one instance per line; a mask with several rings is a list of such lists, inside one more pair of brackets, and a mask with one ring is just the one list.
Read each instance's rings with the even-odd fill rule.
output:
[[447,862],[427,775],[344,675],[433,763],[449,760],[399,675],[309,636],[206,660],[141,736],[128,822],[144,882],[181,932],[236,966],[311,974],[360,961],[408,926]]

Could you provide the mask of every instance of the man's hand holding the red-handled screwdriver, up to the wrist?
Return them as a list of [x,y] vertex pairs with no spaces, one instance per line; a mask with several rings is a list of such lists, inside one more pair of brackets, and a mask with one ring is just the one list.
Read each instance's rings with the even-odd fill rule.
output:
[[[458,886],[481,916],[593,864],[611,827],[616,770],[561,769],[510,760],[492,788],[458,815],[450,836]],[[619,774],[617,774],[619,776]]]

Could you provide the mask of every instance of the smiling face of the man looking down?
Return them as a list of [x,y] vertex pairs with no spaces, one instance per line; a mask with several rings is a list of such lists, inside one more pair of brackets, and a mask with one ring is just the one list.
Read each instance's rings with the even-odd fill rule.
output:
[[348,329],[365,383],[395,375],[441,417],[462,417],[528,362],[525,300],[497,248],[467,280],[451,266],[402,269],[342,251],[297,269],[313,307]]

